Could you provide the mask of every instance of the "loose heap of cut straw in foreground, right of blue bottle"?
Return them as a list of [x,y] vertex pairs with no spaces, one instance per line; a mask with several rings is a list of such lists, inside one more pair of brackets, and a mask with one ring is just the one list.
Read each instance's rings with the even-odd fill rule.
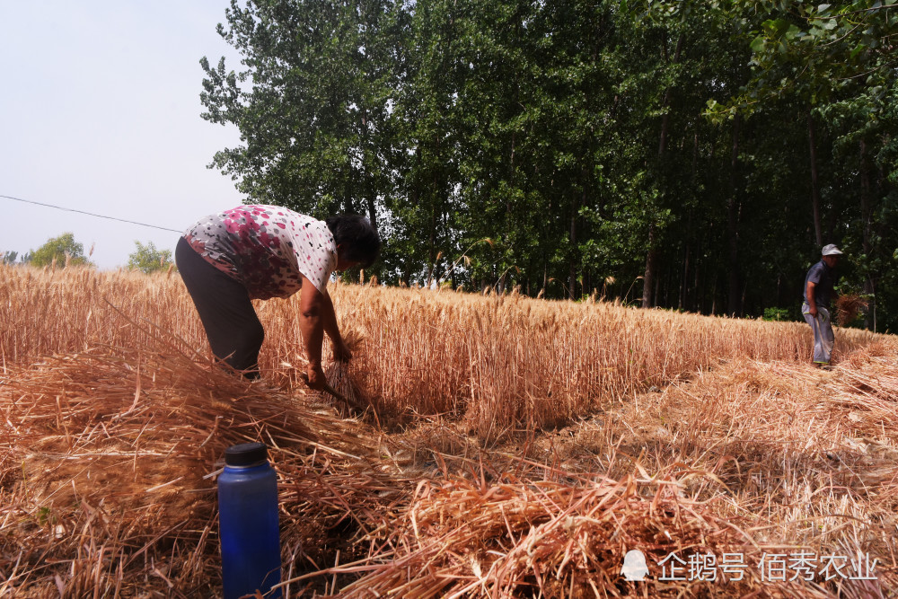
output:
[[[621,577],[624,555],[634,548],[657,569],[671,552],[720,555],[746,547],[738,519],[723,521],[677,497],[681,481],[656,481],[648,498],[640,493],[646,483],[569,476],[423,483],[390,539],[397,550],[375,567],[355,568],[370,573],[339,596],[603,597],[642,595],[643,588],[652,596],[712,594],[708,581],[637,586]],[[753,579],[749,573],[727,590],[744,595]]]

